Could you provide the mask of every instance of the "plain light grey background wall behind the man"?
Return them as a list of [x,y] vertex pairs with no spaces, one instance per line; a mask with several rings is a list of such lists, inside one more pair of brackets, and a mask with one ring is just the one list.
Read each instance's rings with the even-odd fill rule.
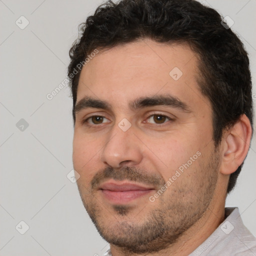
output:
[[[76,184],[66,177],[72,169],[69,89],[66,86],[51,100],[46,98],[66,77],[68,50],[76,38],[77,25],[101,2],[0,0],[2,256],[101,255],[107,248],[83,208]],[[250,55],[254,83],[256,1],[201,2],[234,20],[232,29],[239,33]],[[29,21],[24,29],[15,24],[21,15]],[[253,90],[255,93],[255,87]],[[28,123],[23,131],[16,127],[21,118]],[[254,235],[255,163],[253,138],[237,186],[226,202],[239,207]],[[29,226],[23,235],[15,229],[21,220]]]

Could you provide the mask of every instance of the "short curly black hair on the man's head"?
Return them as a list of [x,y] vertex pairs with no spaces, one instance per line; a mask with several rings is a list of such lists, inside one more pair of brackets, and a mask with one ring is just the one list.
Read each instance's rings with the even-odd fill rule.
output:
[[[188,43],[197,53],[198,84],[211,102],[213,140],[219,145],[225,128],[245,114],[252,126],[253,110],[249,59],[242,42],[220,14],[196,0],[107,1],[80,24],[80,36],[72,45],[68,76],[74,106],[80,70],[77,64],[93,50],[149,38],[156,42]],[[74,75],[74,70],[76,73]],[[242,163],[243,164],[243,163]],[[229,193],[242,164],[230,174]]]

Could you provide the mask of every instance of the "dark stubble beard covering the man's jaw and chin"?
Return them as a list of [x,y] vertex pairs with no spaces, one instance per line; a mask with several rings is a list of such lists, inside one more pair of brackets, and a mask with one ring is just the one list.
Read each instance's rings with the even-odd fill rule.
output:
[[[78,182],[77,185],[83,205],[103,239],[118,246],[126,254],[152,253],[172,246],[202,217],[214,193],[218,165],[219,155],[215,151],[211,160],[199,167],[200,173],[204,170],[207,175],[199,176],[198,182],[193,186],[175,187],[169,200],[166,191],[171,188],[166,189],[156,199],[160,206],[146,214],[143,214],[143,209],[142,214],[138,213],[142,217],[139,223],[129,218],[129,213],[133,210],[129,205],[113,205],[115,217],[109,222],[107,214],[110,213],[96,197],[93,199],[94,193],[84,196],[82,185]],[[128,172],[125,173],[127,175]],[[148,200],[148,203],[152,202]]]

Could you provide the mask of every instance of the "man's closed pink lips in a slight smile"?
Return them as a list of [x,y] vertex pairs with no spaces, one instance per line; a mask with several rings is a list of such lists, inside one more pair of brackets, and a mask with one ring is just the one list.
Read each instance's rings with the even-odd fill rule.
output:
[[99,186],[103,197],[111,203],[124,204],[136,198],[143,197],[154,188],[131,182],[105,182]]

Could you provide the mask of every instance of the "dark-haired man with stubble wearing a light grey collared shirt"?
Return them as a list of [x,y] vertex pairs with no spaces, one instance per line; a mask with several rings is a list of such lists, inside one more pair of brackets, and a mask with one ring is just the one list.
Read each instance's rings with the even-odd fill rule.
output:
[[99,6],[70,49],[73,165],[105,255],[256,255],[225,208],[252,135],[247,53],[194,0]]

